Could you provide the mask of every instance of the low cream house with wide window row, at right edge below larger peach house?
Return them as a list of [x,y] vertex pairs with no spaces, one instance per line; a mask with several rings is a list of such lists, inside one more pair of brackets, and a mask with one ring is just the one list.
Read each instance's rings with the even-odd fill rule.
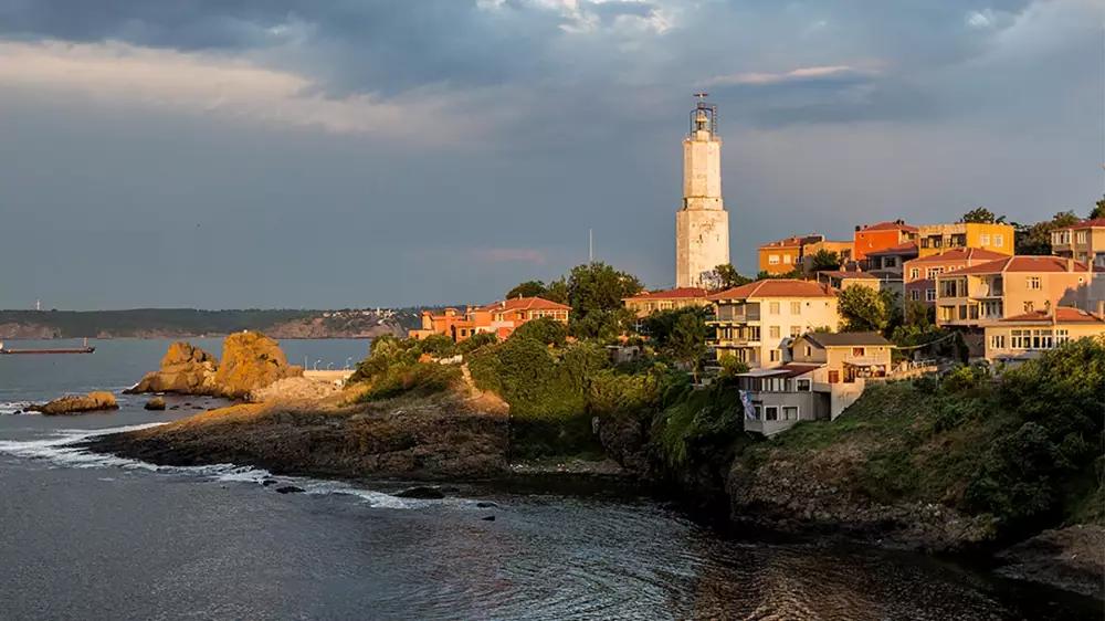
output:
[[1105,303],[1095,313],[1057,306],[1007,317],[986,326],[986,359],[1017,364],[1069,340],[1105,336]]

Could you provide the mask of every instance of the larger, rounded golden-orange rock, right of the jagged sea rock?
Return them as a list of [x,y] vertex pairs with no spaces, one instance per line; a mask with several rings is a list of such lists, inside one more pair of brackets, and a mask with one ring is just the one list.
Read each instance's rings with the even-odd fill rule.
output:
[[244,399],[253,390],[299,376],[303,367],[288,365],[280,344],[263,334],[243,331],[223,341],[214,383],[223,397]]

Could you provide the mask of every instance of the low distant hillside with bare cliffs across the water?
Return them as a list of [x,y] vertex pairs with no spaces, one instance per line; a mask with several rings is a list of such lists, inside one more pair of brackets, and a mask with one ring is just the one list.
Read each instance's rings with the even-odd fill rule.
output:
[[371,338],[401,335],[417,317],[412,309],[0,310],[0,339],[186,338],[241,330],[273,338]]

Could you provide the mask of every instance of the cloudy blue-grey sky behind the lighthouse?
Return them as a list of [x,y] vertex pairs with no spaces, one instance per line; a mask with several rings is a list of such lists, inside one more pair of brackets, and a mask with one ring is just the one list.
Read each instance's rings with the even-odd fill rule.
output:
[[0,307],[484,302],[674,280],[690,94],[733,259],[1088,211],[1105,0],[0,0]]

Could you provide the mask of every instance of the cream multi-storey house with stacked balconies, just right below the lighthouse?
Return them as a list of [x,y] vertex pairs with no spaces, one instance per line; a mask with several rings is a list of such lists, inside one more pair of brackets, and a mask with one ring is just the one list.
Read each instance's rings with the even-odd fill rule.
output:
[[788,339],[815,328],[835,330],[836,291],[790,278],[768,278],[709,296],[714,329],[709,345],[718,359],[734,356],[750,367],[783,362]]

